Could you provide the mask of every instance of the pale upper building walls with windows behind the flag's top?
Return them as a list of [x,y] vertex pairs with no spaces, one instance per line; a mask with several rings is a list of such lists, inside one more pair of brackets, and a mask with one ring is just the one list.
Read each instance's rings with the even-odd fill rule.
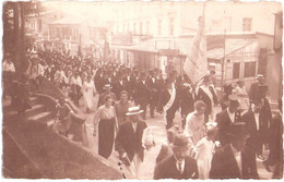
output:
[[[128,31],[145,35],[147,22],[149,34],[154,37],[171,36],[170,19],[174,20],[174,35],[194,33],[198,28],[198,17],[202,15],[203,3],[200,2],[125,2],[117,12],[114,33]],[[226,32],[261,32],[274,34],[274,14],[282,9],[277,2],[208,2],[205,22],[208,33]],[[127,10],[127,11],[126,11]],[[250,28],[242,29],[244,19],[251,19]],[[158,22],[162,22],[161,34]],[[142,32],[140,32],[140,23]]]

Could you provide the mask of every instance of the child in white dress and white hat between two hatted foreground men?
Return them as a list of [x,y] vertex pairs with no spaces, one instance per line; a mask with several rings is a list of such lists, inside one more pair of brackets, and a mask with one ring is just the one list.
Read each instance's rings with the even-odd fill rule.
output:
[[217,124],[215,122],[208,122],[206,125],[206,136],[202,137],[193,149],[198,163],[199,179],[201,180],[209,179],[211,161],[215,150],[214,141],[217,134]]

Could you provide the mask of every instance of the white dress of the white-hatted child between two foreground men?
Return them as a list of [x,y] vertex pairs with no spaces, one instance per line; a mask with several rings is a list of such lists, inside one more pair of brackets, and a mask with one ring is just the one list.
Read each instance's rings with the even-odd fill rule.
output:
[[202,137],[193,149],[199,170],[199,179],[209,179],[211,161],[214,153],[214,143],[208,137]]

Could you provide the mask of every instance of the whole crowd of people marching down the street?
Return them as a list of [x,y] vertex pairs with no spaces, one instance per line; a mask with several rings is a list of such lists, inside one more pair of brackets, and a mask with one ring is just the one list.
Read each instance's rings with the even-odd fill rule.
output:
[[[9,62],[3,68],[4,73],[13,71]],[[108,158],[115,147],[138,177],[144,149],[155,146],[146,113],[155,118],[157,112],[164,113],[168,144],[157,156],[154,179],[258,179],[258,159],[275,178],[282,177],[282,116],[272,117],[263,75],[257,76],[248,93],[240,80],[224,85],[220,96],[214,71],[193,85],[176,70],[164,74],[158,69],[145,71],[43,50],[31,57],[27,73],[35,90],[46,77],[75,106],[84,100],[86,113],[95,110],[98,94],[94,116],[98,154]],[[217,105],[222,111],[214,113]],[[57,119],[67,121],[59,124],[67,135],[71,109],[61,100],[57,110],[63,112]],[[182,121],[176,125],[179,111]],[[263,146],[270,149],[267,159]]]

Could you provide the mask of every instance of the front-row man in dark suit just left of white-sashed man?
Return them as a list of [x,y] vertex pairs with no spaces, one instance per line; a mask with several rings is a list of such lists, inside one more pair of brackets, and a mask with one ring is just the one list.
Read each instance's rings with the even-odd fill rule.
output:
[[154,118],[155,108],[157,106],[158,99],[158,81],[154,70],[150,71],[150,75],[146,78],[146,85],[150,89],[150,116],[151,118]]

